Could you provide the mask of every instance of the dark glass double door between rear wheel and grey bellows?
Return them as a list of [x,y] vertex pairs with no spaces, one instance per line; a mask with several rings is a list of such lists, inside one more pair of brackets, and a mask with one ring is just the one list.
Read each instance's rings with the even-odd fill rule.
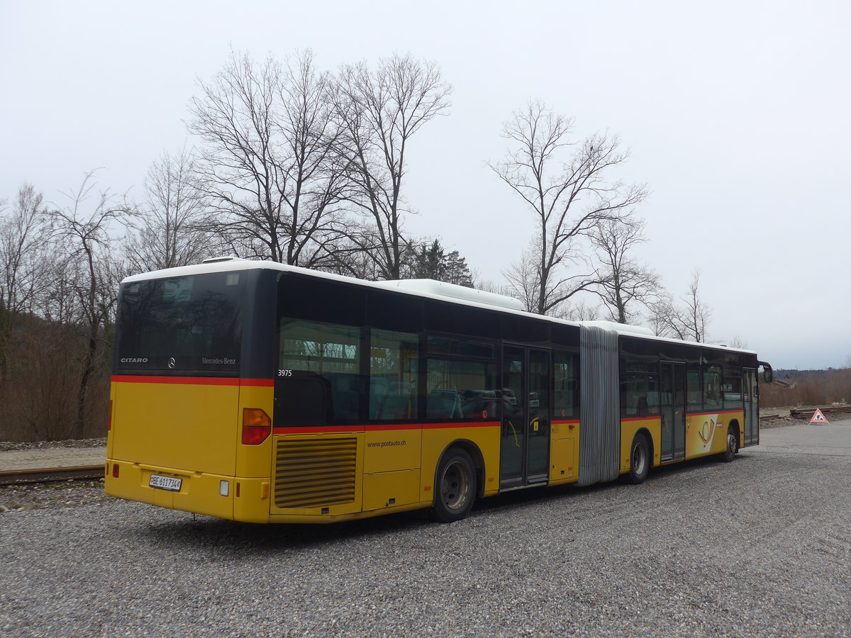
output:
[[550,470],[550,351],[502,352],[500,488],[545,483]]

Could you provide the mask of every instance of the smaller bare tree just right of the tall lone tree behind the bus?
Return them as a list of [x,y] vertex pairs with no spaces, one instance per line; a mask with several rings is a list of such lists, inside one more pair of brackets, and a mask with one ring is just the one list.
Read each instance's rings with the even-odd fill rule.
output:
[[659,276],[630,255],[631,248],[645,242],[644,222],[631,214],[605,219],[591,233],[597,249],[597,279],[593,292],[603,300],[614,322],[628,323],[636,316],[636,304],[648,305],[659,298]]

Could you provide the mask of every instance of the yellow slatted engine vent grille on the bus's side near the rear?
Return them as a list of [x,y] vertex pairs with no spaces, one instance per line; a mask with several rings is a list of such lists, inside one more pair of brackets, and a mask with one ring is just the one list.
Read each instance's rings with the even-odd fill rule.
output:
[[278,439],[275,504],[325,507],[355,500],[357,439]]

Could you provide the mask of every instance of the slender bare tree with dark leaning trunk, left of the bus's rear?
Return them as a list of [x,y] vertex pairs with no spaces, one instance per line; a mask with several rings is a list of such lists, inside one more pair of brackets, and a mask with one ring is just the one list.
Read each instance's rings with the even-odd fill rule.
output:
[[107,354],[106,328],[117,302],[117,273],[112,264],[110,224],[125,213],[115,205],[106,191],[95,191],[94,171],[83,178],[77,191],[66,195],[70,203],[64,208],[49,211],[57,246],[66,251],[61,265],[60,281],[71,294],[65,296],[62,318],[73,321],[83,329],[86,347],[80,362],[77,391],[77,418],[73,435],[85,431],[89,382],[99,356]]

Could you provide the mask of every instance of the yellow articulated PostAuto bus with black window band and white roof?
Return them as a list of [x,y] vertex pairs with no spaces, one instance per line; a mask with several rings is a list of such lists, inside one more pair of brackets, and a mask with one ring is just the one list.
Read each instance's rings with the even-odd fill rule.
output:
[[748,350],[430,280],[210,259],[122,282],[106,492],[331,522],[589,485],[759,442]]

